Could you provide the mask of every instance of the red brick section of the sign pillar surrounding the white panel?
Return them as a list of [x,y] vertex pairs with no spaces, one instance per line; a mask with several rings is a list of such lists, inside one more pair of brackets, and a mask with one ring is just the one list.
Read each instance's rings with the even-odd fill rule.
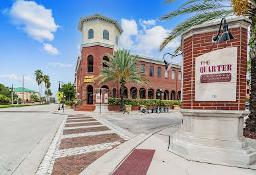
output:
[[[183,40],[183,109],[216,109],[216,110],[245,110],[246,69],[247,69],[247,29],[232,28],[230,32],[236,39],[212,44],[216,32],[195,34]],[[195,59],[204,53],[238,47],[237,90],[234,102],[195,102]],[[193,78],[192,78],[193,77]]]

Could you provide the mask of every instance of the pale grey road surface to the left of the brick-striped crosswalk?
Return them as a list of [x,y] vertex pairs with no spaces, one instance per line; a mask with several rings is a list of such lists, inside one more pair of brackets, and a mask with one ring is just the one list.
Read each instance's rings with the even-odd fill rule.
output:
[[[12,174],[64,115],[51,114],[57,105],[0,109],[0,174]],[[38,159],[42,159],[39,157]]]

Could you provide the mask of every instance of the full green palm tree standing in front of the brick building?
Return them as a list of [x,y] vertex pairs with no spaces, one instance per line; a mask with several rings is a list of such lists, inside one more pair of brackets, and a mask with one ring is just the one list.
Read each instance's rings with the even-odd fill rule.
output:
[[104,84],[105,82],[113,82],[113,84],[119,83],[121,101],[120,101],[120,111],[124,110],[123,105],[123,91],[125,89],[125,84],[127,82],[133,82],[135,84],[147,84],[148,79],[141,77],[144,74],[144,71],[141,71],[140,68],[134,66],[139,57],[131,57],[130,52],[126,50],[117,50],[114,52],[114,55],[107,54],[110,62],[102,61],[106,66],[100,69],[100,75],[96,79],[100,79],[99,85]]

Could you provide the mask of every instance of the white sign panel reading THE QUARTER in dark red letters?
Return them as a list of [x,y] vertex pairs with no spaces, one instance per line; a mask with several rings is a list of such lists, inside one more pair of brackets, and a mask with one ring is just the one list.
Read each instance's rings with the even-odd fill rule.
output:
[[236,101],[238,47],[195,59],[195,101]]

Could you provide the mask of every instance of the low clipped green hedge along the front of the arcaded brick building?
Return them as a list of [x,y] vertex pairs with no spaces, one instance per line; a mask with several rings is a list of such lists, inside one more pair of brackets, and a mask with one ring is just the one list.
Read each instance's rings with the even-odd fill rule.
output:
[[[145,105],[145,106],[158,106],[160,99],[123,99],[124,103],[129,105]],[[108,105],[120,105],[119,98],[108,98]],[[181,105],[179,100],[161,100],[161,106]]]

